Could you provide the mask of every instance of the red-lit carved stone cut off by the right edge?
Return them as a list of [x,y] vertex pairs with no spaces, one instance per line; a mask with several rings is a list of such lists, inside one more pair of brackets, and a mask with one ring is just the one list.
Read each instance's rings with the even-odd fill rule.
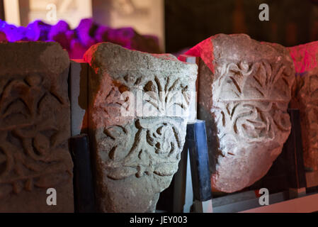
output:
[[302,148],[307,170],[318,170],[318,42],[289,48],[296,82],[292,108],[300,109]]

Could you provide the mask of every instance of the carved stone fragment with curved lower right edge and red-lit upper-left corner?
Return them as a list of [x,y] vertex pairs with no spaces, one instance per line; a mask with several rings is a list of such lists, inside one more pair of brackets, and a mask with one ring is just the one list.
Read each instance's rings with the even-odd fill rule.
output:
[[198,118],[207,125],[212,188],[236,192],[263,177],[290,133],[294,81],[288,50],[248,35],[215,35],[201,57]]

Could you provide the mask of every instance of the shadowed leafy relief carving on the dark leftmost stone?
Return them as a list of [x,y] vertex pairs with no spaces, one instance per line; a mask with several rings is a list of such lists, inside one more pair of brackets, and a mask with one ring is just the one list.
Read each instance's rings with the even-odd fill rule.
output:
[[40,74],[16,77],[0,82],[0,197],[72,177],[64,175],[64,132],[54,116],[47,118],[47,109],[68,104],[54,87],[45,89]]

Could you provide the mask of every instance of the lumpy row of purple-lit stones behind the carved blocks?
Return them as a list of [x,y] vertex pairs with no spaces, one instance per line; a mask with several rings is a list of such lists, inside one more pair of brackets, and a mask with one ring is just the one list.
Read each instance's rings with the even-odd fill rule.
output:
[[160,53],[158,38],[139,35],[133,28],[113,29],[99,26],[91,18],[82,19],[74,30],[65,21],[55,26],[34,21],[26,28],[17,27],[0,20],[0,41],[54,41],[69,52],[71,58],[81,58],[91,45],[110,42],[132,50]]

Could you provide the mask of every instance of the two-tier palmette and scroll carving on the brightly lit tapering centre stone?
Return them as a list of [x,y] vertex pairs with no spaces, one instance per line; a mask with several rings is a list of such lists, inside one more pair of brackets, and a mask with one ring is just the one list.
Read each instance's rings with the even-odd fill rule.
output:
[[[177,170],[177,165],[174,164],[180,160],[184,143],[181,132],[186,131],[183,119],[174,117],[173,114],[179,114],[176,108],[186,113],[191,96],[188,94],[188,86],[182,84],[180,79],[159,79],[156,75],[151,80],[137,77],[135,82],[130,82],[127,81],[128,75],[124,77],[123,84],[117,81],[110,86],[105,102],[98,107],[108,116],[103,130],[105,136],[98,142],[108,154],[108,159],[104,160],[108,177],[124,179],[131,175],[142,177],[145,174],[172,176]],[[141,116],[137,120],[132,120],[133,116],[120,115],[123,108],[130,109],[132,104],[122,98],[128,87],[130,91],[134,88],[137,90],[132,93],[133,97],[137,97],[138,92],[147,92],[143,93],[142,109],[152,108],[152,111],[133,112],[132,114]],[[181,94],[181,99],[176,99],[176,94]],[[169,114],[172,117],[155,118]],[[117,121],[114,121],[115,118]],[[126,121],[128,123],[123,123]],[[167,172],[162,165],[175,167]]]

